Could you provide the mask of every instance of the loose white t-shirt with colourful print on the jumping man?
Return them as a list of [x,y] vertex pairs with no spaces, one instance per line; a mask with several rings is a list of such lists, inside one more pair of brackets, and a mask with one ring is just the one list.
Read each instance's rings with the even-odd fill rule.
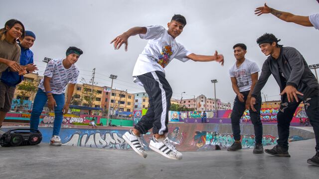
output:
[[146,34],[140,34],[140,38],[149,41],[139,55],[133,70],[134,82],[139,85],[142,83],[137,76],[154,71],[165,73],[164,68],[173,58],[186,62],[189,60],[186,56],[191,54],[183,45],[176,42],[163,26],[152,25],[146,28]]

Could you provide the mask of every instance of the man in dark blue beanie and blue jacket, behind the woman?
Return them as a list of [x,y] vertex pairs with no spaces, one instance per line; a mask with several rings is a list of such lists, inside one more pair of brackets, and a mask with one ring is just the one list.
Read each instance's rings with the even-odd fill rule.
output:
[[19,38],[19,41],[21,48],[20,65],[26,68],[25,70],[28,73],[32,73],[37,70],[36,65],[33,64],[33,52],[30,50],[35,41],[35,34],[26,30],[24,38]]

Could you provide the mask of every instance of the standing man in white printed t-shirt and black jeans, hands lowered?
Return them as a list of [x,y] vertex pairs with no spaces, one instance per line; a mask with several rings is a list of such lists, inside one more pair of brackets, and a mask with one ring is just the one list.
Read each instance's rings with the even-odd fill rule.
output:
[[[239,43],[233,46],[235,64],[229,69],[229,76],[232,87],[236,93],[233,112],[231,113],[231,126],[235,142],[228,147],[228,151],[237,151],[242,149],[240,142],[240,118],[246,109],[250,109],[251,93],[258,80],[259,67],[255,62],[245,58],[247,46]],[[257,101],[254,105],[256,111],[249,110],[251,122],[255,130],[254,154],[264,153],[262,137],[263,125],[260,120],[261,95],[257,95]]]

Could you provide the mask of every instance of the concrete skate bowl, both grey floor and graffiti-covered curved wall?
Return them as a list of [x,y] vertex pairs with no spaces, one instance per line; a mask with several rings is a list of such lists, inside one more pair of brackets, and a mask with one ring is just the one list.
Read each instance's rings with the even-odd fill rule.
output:
[[[25,124],[19,125],[5,127],[27,127]],[[307,164],[307,159],[315,154],[316,143],[312,139],[314,133],[308,131],[310,127],[306,130],[290,128],[291,158],[253,154],[252,124],[241,125],[244,150],[235,152],[225,151],[233,143],[231,124],[169,123],[168,128],[168,137],[182,151],[182,160],[170,160],[150,151],[147,146],[152,133],[143,138],[148,157],[139,156],[122,138],[130,127],[98,126],[98,129],[92,129],[63,125],[60,131],[63,145],[55,147],[48,144],[52,125],[41,124],[41,144],[0,147],[0,178],[316,179],[319,175],[318,167]],[[263,125],[263,128],[264,149],[270,149],[273,147],[270,145],[277,143],[277,125]],[[0,132],[8,129],[1,129]],[[214,151],[216,145],[221,150]]]

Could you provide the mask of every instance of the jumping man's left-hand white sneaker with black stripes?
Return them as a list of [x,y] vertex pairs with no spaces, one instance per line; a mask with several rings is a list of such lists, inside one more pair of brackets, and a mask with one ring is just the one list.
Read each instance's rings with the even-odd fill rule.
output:
[[148,154],[145,152],[143,142],[140,136],[134,135],[132,130],[129,130],[123,135],[123,139],[131,146],[131,148],[140,156],[146,158]]

